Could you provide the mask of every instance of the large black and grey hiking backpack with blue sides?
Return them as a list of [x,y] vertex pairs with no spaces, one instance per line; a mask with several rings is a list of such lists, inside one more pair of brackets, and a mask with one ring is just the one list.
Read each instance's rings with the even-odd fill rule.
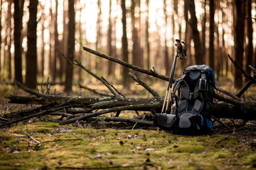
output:
[[[168,109],[167,114],[154,115],[154,124],[176,134],[199,135],[212,132],[210,117],[214,107],[214,88],[215,75],[211,67],[187,67],[174,83],[171,109]],[[174,110],[172,114],[171,110]]]

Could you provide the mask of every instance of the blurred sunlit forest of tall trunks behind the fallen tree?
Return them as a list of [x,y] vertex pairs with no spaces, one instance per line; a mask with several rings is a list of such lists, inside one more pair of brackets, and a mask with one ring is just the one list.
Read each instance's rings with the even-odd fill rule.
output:
[[[129,69],[82,50],[103,54],[169,76],[175,39],[187,44],[177,77],[189,65],[210,65],[216,78],[241,88],[241,73],[256,66],[255,0],[0,0],[0,79],[36,88],[42,79],[64,84],[92,81],[69,60],[130,86]],[[175,77],[174,77],[175,78]]]

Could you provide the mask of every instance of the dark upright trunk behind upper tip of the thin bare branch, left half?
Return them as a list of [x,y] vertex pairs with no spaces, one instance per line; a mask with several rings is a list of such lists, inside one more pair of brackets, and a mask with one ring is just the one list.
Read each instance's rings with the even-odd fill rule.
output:
[[[67,59],[73,61],[74,59],[74,32],[75,32],[75,13],[74,13],[74,0],[69,0],[69,37],[68,37],[68,54]],[[65,92],[72,92],[73,81],[73,65],[67,61],[66,66],[66,80]]]

